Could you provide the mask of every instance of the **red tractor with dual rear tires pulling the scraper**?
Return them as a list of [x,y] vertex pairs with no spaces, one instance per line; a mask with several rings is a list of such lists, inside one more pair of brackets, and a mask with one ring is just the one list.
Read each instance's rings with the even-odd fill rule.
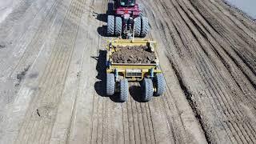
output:
[[114,0],[109,3],[108,12],[113,12],[107,16],[108,36],[145,38],[150,30],[148,19],[142,16],[142,7],[135,0]]

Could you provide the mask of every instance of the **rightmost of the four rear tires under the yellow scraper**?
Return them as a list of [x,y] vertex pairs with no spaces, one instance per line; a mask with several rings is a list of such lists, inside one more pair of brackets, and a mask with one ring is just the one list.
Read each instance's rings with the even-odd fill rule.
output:
[[154,76],[154,84],[156,87],[155,96],[162,95],[166,90],[166,82],[163,74],[155,74]]

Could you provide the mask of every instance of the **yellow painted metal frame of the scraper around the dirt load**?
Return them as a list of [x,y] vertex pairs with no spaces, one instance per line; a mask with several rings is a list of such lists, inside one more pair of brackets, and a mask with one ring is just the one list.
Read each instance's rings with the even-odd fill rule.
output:
[[106,60],[110,62],[110,66],[106,69],[106,73],[115,73],[115,70],[118,70],[118,75],[126,77],[126,70],[140,70],[142,73],[141,77],[126,77],[129,81],[141,81],[144,77],[150,75],[150,70],[154,70],[154,74],[162,73],[158,69],[158,56],[155,55],[155,63],[150,64],[139,64],[139,63],[114,63],[112,62],[111,55],[118,51],[116,46],[148,46],[151,51],[154,51],[156,54],[157,44],[151,40],[144,39],[114,39],[108,42]]

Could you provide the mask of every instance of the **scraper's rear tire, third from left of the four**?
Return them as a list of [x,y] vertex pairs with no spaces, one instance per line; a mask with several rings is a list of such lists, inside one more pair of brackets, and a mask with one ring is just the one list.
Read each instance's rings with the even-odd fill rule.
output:
[[142,102],[148,102],[153,97],[154,87],[150,78],[142,80]]

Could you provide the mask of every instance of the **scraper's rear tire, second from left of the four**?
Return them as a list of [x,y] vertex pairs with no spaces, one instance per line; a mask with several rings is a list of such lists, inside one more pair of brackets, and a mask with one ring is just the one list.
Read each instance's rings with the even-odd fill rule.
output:
[[129,94],[128,80],[124,78],[120,81],[119,102],[126,102],[128,100],[128,94]]

